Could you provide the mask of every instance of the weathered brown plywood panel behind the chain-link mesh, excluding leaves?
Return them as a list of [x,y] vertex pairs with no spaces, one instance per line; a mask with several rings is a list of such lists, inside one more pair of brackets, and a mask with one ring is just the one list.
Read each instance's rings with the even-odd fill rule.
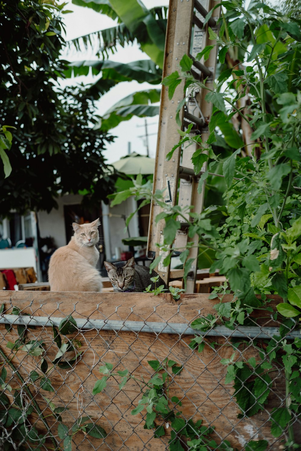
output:
[[[195,318],[195,314],[201,310],[203,315],[216,313],[213,305],[217,300],[208,299],[208,295],[188,294],[181,298],[181,307],[171,303],[170,295],[153,296],[142,293],[127,294],[107,294],[107,293],[56,293],[56,292],[35,292],[30,291],[2,291],[0,293],[0,303],[4,302],[5,308],[9,311],[12,305],[17,305],[23,313],[33,313],[36,316],[51,316],[54,313],[69,315],[74,318],[103,318],[129,319],[141,317],[145,321],[153,321],[161,318],[168,322],[186,322]],[[279,302],[279,297],[270,296]],[[33,299],[33,300],[32,300]],[[232,300],[231,295],[226,295],[225,302]],[[272,303],[270,305],[275,305]],[[31,304],[31,306],[29,306]],[[136,308],[136,306],[137,308]],[[7,312],[4,312],[7,313]],[[267,312],[269,313],[269,312]],[[258,315],[262,317],[263,311],[259,310]],[[271,325],[270,313],[265,318],[265,322]],[[20,375],[28,380],[31,371],[40,370],[41,356],[32,357],[19,350],[16,354],[6,347],[7,341],[15,341],[18,338],[17,328],[13,326],[9,333],[4,325],[0,325],[0,347],[11,362],[18,368]],[[241,441],[250,440],[250,433],[258,433],[258,439],[265,438],[277,448],[277,440],[270,435],[269,411],[276,407],[279,398],[285,397],[284,377],[279,377],[278,369],[270,372],[269,375],[275,377],[273,391],[276,396],[270,396],[269,405],[259,414],[250,419],[237,419],[239,409],[233,400],[234,389],[231,384],[225,384],[227,366],[220,363],[221,358],[230,358],[233,349],[225,345],[222,337],[211,337],[206,339],[206,345],[202,354],[191,350],[189,343],[191,336],[179,338],[175,334],[134,333],[134,332],[114,332],[114,331],[79,331],[69,335],[72,340],[75,338],[81,342],[82,357],[72,370],[60,368],[51,369],[51,361],[55,358],[58,348],[53,340],[51,327],[36,327],[34,330],[26,331],[26,341],[32,339],[42,340],[46,355],[44,358],[50,368],[47,377],[51,381],[54,392],[44,391],[39,386],[39,381],[31,386],[35,399],[49,414],[47,421],[52,427],[53,434],[57,437],[58,423],[51,416],[51,411],[46,407],[46,396],[51,399],[57,407],[67,406],[63,414],[63,422],[68,428],[74,425],[74,419],[79,416],[89,415],[93,422],[102,426],[108,433],[104,442],[93,437],[84,436],[82,433],[73,437],[74,444],[81,451],[102,450],[124,450],[130,451],[142,449],[161,451],[167,449],[170,439],[171,428],[166,428],[167,435],[160,439],[153,438],[153,430],[144,429],[143,417],[145,411],[139,415],[131,415],[131,410],[138,405],[141,397],[139,383],[130,380],[126,383],[122,391],[119,390],[118,377],[110,377],[107,380],[107,387],[102,393],[92,395],[95,382],[100,379],[101,374],[98,368],[105,362],[113,364],[114,371],[129,370],[130,374],[136,377],[144,377],[147,381],[153,374],[153,370],[148,365],[148,360],[158,359],[163,361],[166,357],[183,364],[183,371],[174,377],[174,382],[169,385],[169,398],[177,396],[181,402],[182,415],[186,419],[193,418],[203,420],[204,425],[211,424],[216,428],[213,438],[219,443],[220,438],[227,438],[233,447],[241,449]],[[218,352],[211,344],[218,344]],[[256,356],[255,350],[247,347],[244,351],[244,359]],[[238,357],[238,354],[237,354]],[[69,357],[68,357],[69,358]],[[12,372],[8,368],[8,380],[13,389],[20,388],[20,381],[17,377],[12,377]],[[277,376],[277,377],[276,377]],[[37,417],[32,415],[32,419]],[[144,417],[145,418],[145,417]],[[36,424],[38,430],[42,431],[41,422]],[[59,439],[58,439],[59,440]],[[59,440],[60,441],[60,440]],[[278,444],[279,444],[278,443]],[[61,446],[63,446],[61,444]]]

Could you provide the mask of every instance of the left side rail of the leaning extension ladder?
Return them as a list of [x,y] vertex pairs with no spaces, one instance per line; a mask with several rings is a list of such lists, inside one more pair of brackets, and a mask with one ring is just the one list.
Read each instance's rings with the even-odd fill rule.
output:
[[[163,78],[178,70],[181,58],[189,53],[192,16],[192,1],[170,0]],[[183,88],[184,81],[176,87],[172,100],[169,100],[168,88],[162,87],[159,113],[153,193],[156,189],[165,189],[165,202],[172,206],[176,204],[181,150],[177,149],[170,161],[166,161],[166,155],[171,150],[171,147],[179,141],[178,125],[175,117],[178,103],[183,98]],[[183,114],[184,110],[182,109],[180,113],[181,121],[183,120]],[[152,202],[148,231],[148,258],[160,255],[163,260],[165,253],[156,246],[156,243],[163,244],[164,242],[163,229],[165,221],[161,220],[157,224],[155,222],[155,218],[160,212],[162,212],[162,207]],[[170,265],[164,267],[162,260],[155,268],[155,271],[168,283]]]

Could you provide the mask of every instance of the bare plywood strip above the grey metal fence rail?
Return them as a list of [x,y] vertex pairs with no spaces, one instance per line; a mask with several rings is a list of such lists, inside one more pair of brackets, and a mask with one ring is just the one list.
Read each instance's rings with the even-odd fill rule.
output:
[[[224,295],[222,302],[230,302],[232,299],[232,295]],[[282,298],[267,295],[267,299],[273,299],[270,305],[274,306],[281,302]],[[200,314],[206,316],[212,313],[213,305],[217,302],[218,299],[208,299],[207,294],[195,293],[182,294],[181,299],[176,302],[170,293],[154,296],[150,293],[36,291],[33,294],[31,291],[0,291],[0,304],[5,304],[4,313],[11,312],[12,306],[15,305],[22,313],[34,313],[36,316],[64,317],[71,313],[74,318],[110,318],[123,321],[141,321],[141,318],[147,318],[150,322],[189,324]],[[268,318],[269,326],[278,324],[272,322],[269,312],[259,310],[258,316],[262,321]]]

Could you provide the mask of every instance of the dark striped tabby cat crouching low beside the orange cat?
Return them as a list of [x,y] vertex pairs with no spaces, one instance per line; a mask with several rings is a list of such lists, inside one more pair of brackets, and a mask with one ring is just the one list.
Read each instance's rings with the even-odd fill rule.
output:
[[[134,257],[130,258],[127,262],[103,263],[113,285],[114,293],[143,292],[148,285],[151,285],[151,290],[155,289],[155,283],[150,278],[157,276],[157,272],[153,271],[152,274],[149,274],[149,268],[147,266],[136,265]],[[156,282],[156,287],[160,285],[164,285],[164,288],[168,290],[166,283],[161,277]]]

